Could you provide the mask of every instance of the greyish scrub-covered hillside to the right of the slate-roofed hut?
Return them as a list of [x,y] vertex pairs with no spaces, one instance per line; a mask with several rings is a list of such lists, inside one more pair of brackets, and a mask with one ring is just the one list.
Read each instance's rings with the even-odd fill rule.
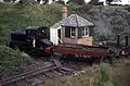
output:
[[[100,40],[115,40],[117,34],[130,32],[130,12],[128,11],[128,7],[101,5],[91,7],[91,9],[88,8],[87,5],[80,8],[78,14],[94,23],[95,35],[104,36]],[[96,39],[99,38],[96,36]]]

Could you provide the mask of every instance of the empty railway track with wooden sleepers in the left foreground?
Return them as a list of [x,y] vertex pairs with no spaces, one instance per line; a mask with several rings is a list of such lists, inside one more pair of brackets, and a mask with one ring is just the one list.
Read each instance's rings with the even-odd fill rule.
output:
[[53,60],[34,71],[1,79],[0,86],[42,86],[46,81],[70,74],[73,71],[74,69],[61,66],[58,61]]

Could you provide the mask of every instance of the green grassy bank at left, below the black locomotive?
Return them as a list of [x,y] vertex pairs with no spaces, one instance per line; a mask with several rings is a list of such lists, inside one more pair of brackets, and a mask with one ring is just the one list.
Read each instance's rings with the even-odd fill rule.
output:
[[29,56],[11,48],[0,46],[0,77],[12,76],[24,72],[31,64]]

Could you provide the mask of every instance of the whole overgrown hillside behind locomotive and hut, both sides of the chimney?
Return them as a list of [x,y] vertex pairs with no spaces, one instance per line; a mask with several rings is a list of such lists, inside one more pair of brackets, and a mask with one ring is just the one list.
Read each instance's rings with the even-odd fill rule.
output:
[[[62,16],[62,4],[0,3],[0,44],[10,39],[10,32],[13,29],[25,29],[31,25],[50,27]],[[94,23],[95,40],[115,40],[117,34],[130,30],[130,13],[123,7],[68,4],[68,15],[72,13],[77,13]],[[100,35],[103,35],[102,39]]]

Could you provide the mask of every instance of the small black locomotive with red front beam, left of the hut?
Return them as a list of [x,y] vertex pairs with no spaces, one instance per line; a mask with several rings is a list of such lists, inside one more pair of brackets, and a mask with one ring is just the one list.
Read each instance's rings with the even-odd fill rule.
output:
[[13,30],[8,46],[28,53],[50,53],[54,45],[47,39],[44,26],[28,26],[26,30]]

